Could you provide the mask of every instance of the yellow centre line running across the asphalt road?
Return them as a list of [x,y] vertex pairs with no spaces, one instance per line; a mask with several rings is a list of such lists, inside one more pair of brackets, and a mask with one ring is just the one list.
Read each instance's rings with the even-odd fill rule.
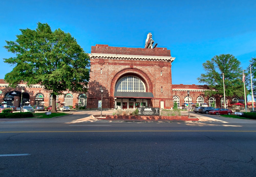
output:
[[61,132],[256,132],[256,130],[82,130],[82,131],[0,131],[0,133],[61,133]]

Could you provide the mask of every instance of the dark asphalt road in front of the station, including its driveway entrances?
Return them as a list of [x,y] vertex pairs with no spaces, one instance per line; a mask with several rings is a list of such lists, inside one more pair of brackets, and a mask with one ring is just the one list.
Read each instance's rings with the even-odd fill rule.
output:
[[0,176],[255,176],[254,120],[116,122],[95,113],[0,122]]

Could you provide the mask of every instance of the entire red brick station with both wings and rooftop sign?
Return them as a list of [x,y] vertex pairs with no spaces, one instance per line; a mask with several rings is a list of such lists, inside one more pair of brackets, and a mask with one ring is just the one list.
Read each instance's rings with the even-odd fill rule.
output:
[[[145,48],[92,46],[88,93],[67,92],[58,95],[57,108],[65,104],[87,106],[88,109],[100,108],[101,105],[103,109],[135,109],[141,106],[171,109],[174,102],[179,106],[183,103],[188,103],[190,107],[196,103],[211,106],[214,103],[216,107],[224,107],[222,95],[204,95],[207,85],[172,84],[172,62],[175,58],[170,50],[153,47],[152,38],[148,39]],[[25,84],[19,84],[13,89],[1,79],[0,92],[3,104],[18,107],[28,105],[28,102],[31,105],[52,105],[51,95],[40,85],[28,88]],[[238,97],[226,97],[226,105],[239,100]]]

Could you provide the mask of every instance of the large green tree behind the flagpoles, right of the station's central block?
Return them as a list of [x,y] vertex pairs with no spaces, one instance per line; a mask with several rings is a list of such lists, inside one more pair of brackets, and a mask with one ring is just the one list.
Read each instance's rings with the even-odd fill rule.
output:
[[209,86],[210,90],[205,91],[205,95],[224,95],[222,80],[222,73],[224,73],[225,95],[243,96],[243,71],[240,64],[240,61],[231,54],[216,55],[211,60],[207,60],[203,63],[202,65],[205,74],[201,74],[197,80],[200,83],[206,83]]

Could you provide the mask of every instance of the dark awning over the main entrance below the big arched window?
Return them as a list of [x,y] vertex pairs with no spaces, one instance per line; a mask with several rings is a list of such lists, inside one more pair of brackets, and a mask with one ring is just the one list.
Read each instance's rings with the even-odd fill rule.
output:
[[115,92],[116,98],[154,98],[152,92]]

